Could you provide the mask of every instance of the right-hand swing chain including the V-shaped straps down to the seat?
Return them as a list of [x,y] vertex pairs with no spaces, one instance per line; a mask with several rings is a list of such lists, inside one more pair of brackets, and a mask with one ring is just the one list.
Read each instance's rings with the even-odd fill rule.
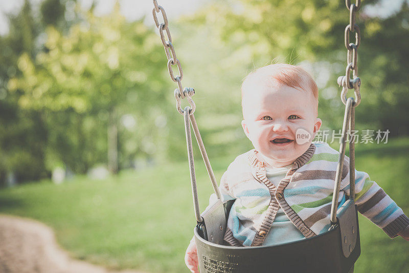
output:
[[[355,136],[351,134],[355,130],[355,107],[361,101],[361,95],[359,92],[360,88],[360,78],[358,77],[358,52],[357,49],[360,45],[360,31],[358,25],[355,24],[356,14],[355,12],[360,9],[361,2],[356,0],[356,5],[351,4],[351,0],[345,1],[349,13],[349,24],[345,28],[345,47],[348,50],[347,53],[347,68],[345,71],[345,76],[338,77],[338,85],[342,86],[341,100],[345,104],[345,115],[342,129],[341,144],[339,147],[339,160],[335,175],[335,187],[332,196],[332,206],[331,206],[331,223],[335,224],[336,211],[338,205],[338,196],[340,183],[342,179],[342,171],[344,167],[344,157],[345,148],[349,137],[349,192],[350,199],[355,200]],[[350,32],[355,31],[355,43],[349,43]],[[351,70],[353,71],[353,79],[350,79]],[[355,99],[350,97],[347,98],[348,89],[354,89]],[[348,127],[348,129],[347,129]]]

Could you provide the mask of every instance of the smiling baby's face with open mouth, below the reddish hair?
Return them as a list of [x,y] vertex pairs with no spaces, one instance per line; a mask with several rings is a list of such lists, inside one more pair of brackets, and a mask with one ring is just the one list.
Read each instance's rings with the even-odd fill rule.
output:
[[[307,151],[321,127],[313,95],[275,82],[257,83],[251,88],[253,92],[243,92],[244,133],[260,153],[260,159],[268,165],[291,164]],[[296,141],[300,128],[311,134],[303,144]]]

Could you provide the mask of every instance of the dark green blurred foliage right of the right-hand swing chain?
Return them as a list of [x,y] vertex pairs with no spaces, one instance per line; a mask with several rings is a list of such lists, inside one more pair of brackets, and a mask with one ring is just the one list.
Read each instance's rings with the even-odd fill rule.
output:
[[[362,44],[364,91],[369,103],[357,110],[363,122],[379,121],[394,135],[409,134],[409,3],[385,19],[366,18]],[[365,60],[365,62],[363,61]],[[365,67],[364,67],[365,66]],[[368,114],[370,113],[370,114]]]

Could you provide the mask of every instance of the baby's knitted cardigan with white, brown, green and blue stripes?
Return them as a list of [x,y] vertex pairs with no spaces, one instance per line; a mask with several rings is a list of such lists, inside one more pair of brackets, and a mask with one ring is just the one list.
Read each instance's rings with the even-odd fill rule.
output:
[[[306,238],[326,232],[339,153],[326,143],[312,143],[277,187],[267,179],[264,162],[256,154],[251,150],[239,155],[221,178],[222,202],[235,200],[224,240],[233,246],[261,245],[280,207]],[[345,157],[338,207],[348,196]],[[355,171],[355,203],[391,238],[409,225],[402,209],[364,172]]]

